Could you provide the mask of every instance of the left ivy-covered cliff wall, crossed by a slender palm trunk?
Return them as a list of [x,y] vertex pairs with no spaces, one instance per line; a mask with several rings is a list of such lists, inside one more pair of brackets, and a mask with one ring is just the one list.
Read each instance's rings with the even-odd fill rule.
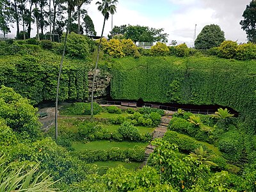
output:
[[[38,104],[55,100],[61,56],[43,51],[31,56],[0,56],[0,85]],[[65,58],[60,82],[60,100],[88,98],[88,61]]]

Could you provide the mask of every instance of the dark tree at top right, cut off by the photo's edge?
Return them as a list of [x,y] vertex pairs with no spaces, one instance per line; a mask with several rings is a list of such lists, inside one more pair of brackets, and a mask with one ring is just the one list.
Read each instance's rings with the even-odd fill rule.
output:
[[256,43],[256,1],[251,1],[246,6],[242,15],[243,20],[240,21],[241,28],[246,31],[247,39],[250,42]]

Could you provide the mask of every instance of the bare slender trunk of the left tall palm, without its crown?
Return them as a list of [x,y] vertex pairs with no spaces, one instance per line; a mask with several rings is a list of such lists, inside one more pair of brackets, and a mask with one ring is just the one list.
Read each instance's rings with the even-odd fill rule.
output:
[[71,9],[68,8],[67,33],[65,35],[65,40],[64,40],[64,48],[63,48],[63,53],[62,53],[62,56],[61,56],[60,71],[59,71],[57,90],[56,90],[56,102],[55,102],[55,140],[57,140],[57,138],[58,138],[58,99],[59,99],[59,88],[60,88],[60,75],[61,75],[61,69],[62,69],[63,60],[64,60],[64,56],[65,56],[65,50],[66,50],[66,46],[67,46],[67,36],[68,36],[68,32],[69,32],[70,20],[71,20]]

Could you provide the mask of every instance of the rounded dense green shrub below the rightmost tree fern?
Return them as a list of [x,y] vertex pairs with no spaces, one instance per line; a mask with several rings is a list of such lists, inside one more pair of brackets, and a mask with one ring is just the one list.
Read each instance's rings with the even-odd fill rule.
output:
[[223,156],[230,161],[239,161],[243,155],[243,136],[238,131],[228,131],[218,142],[218,148]]

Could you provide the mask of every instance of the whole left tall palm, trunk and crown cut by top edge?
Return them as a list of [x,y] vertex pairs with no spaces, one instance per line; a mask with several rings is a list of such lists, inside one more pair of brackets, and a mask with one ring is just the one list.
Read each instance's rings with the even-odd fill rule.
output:
[[67,33],[65,34],[65,39],[64,39],[64,48],[61,56],[61,61],[60,61],[60,70],[59,70],[59,76],[58,76],[58,83],[57,83],[57,90],[56,90],[56,101],[55,101],[55,139],[57,140],[58,138],[58,98],[59,98],[59,88],[60,88],[60,75],[61,75],[61,69],[63,65],[63,60],[65,56],[65,50],[67,47],[67,36],[69,33],[69,28],[71,24],[71,12],[74,12],[75,6],[76,6],[76,0],[67,0],[68,3],[68,23],[67,23]]

